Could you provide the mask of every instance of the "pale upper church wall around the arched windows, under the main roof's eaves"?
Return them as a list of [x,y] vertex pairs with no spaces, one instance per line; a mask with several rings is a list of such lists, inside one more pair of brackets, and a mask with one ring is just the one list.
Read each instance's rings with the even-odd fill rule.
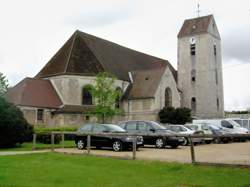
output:
[[[61,75],[49,79],[65,105],[81,105],[83,87],[95,82],[95,77],[75,75]],[[123,92],[128,85],[128,82],[122,80],[115,82],[115,87],[120,87]]]

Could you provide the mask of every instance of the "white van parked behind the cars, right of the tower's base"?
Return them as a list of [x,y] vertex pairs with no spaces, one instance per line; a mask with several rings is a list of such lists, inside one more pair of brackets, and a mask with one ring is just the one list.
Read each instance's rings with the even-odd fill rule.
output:
[[241,127],[232,119],[202,119],[193,120],[193,123],[209,123],[221,127],[223,130],[232,134],[246,134],[249,133],[248,129]]

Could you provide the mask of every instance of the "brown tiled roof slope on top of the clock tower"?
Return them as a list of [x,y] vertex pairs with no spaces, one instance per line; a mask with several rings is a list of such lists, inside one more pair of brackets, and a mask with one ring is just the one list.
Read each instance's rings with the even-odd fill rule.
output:
[[178,34],[178,38],[208,32],[208,26],[212,19],[213,15],[208,15],[185,20]]

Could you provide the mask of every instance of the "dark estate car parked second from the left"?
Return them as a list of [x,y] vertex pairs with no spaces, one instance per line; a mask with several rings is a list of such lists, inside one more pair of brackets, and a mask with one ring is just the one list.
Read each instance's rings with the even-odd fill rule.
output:
[[184,141],[183,138],[168,137],[167,135],[173,134],[173,132],[154,121],[132,120],[120,122],[118,125],[128,132],[158,134],[159,136],[143,136],[145,145],[155,145],[156,148],[163,148],[165,146],[177,148]]

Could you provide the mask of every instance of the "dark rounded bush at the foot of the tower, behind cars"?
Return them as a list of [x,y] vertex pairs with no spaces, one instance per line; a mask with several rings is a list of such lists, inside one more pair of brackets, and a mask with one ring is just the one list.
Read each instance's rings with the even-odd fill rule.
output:
[[159,112],[161,123],[185,124],[191,122],[191,110],[189,108],[164,107]]

